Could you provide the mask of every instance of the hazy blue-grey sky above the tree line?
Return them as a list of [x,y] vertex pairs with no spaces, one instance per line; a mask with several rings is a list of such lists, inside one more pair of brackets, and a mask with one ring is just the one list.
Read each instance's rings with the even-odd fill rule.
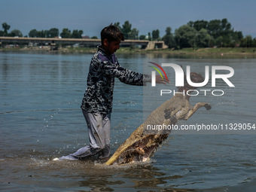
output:
[[110,23],[129,20],[139,35],[159,29],[162,37],[167,26],[174,32],[190,20],[227,18],[235,30],[256,38],[255,0],[0,0],[0,5],[0,24],[6,22],[9,32],[20,29],[23,35],[56,27],[99,37]]

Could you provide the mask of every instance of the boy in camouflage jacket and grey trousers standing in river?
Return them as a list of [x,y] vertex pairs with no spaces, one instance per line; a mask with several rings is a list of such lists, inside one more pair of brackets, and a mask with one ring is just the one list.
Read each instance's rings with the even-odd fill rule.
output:
[[[94,54],[87,77],[87,89],[81,104],[87,121],[90,145],[80,148],[74,154],[60,157],[59,160],[84,160],[98,156],[105,159],[110,154],[111,111],[114,78],[131,85],[145,85],[151,82],[150,75],[143,75],[121,67],[115,56],[124,41],[123,33],[113,25],[101,32],[101,45]],[[157,84],[169,83],[165,78],[156,77]]]

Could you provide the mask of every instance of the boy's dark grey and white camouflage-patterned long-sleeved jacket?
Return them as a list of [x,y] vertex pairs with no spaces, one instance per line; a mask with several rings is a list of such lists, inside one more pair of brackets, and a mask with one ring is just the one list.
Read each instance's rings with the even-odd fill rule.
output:
[[90,62],[81,108],[90,113],[108,114],[112,111],[114,78],[125,84],[142,86],[151,82],[151,76],[124,69],[114,53],[108,55],[101,47],[98,48]]

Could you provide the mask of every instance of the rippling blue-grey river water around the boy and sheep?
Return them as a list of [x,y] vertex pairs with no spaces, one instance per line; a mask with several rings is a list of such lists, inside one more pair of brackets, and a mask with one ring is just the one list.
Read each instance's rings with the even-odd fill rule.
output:
[[[92,55],[0,53],[1,191],[256,190],[256,59],[244,56],[209,59],[117,53],[120,65],[136,72],[151,70],[151,61],[191,66],[191,71],[203,75],[205,66],[232,67],[235,74],[230,81],[235,87],[221,80],[211,87],[209,81],[207,89],[223,90],[224,95],[191,96],[191,105],[209,102],[212,109],[200,108],[178,126],[243,125],[245,130],[174,130],[151,163],[133,166],[53,161],[89,143],[80,105]],[[175,89],[171,71],[166,69],[171,84],[155,88],[148,84],[148,90],[116,80],[111,153],[153,108],[173,96],[160,96],[161,89]]]

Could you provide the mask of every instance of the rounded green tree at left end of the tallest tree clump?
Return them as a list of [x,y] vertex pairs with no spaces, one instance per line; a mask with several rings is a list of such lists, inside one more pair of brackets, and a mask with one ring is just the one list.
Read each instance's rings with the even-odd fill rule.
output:
[[191,26],[184,25],[175,29],[175,43],[178,48],[194,47],[197,30]]

